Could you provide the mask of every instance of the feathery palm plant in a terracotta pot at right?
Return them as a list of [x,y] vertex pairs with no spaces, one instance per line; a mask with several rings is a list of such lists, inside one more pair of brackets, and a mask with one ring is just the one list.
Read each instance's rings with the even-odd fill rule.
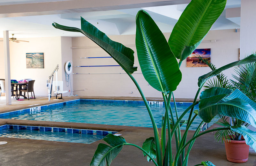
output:
[[[202,57],[199,57],[205,64],[207,64],[212,71],[216,70],[214,64],[205,61]],[[205,88],[211,87],[223,87],[231,90],[239,89],[252,101],[256,99],[256,63],[244,64],[234,69],[235,74],[232,74],[234,79],[228,80],[227,76],[220,73],[216,78],[208,80]],[[218,115],[220,120],[217,124],[224,127],[248,127],[248,123],[233,117],[226,117]],[[231,130],[222,130],[215,133],[215,138],[225,142],[227,160],[230,162],[247,162],[249,156],[249,146],[246,144],[244,137],[241,133],[233,132]]]

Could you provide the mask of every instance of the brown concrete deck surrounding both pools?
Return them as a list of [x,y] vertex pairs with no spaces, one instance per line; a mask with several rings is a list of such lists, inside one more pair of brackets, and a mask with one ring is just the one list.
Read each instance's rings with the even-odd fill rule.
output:
[[[85,97],[64,97],[65,100],[51,100],[54,102],[64,102]],[[87,98],[87,97],[86,97]],[[89,97],[88,97],[89,98]],[[90,97],[92,99],[92,97]],[[97,97],[94,97],[96,99]],[[107,99],[99,97],[97,99]],[[112,98],[108,98],[113,100]],[[137,100],[136,98],[132,98]],[[116,99],[116,100],[132,100],[132,99]],[[150,101],[153,101],[149,99]],[[1,103],[0,103],[1,104]],[[11,106],[5,104],[0,105],[0,112],[11,110],[19,110],[24,108],[35,107],[39,105],[49,104],[47,98],[24,100],[13,103]],[[70,127],[81,129],[104,129],[110,131],[118,131],[127,142],[142,146],[142,143],[153,136],[152,128],[130,127],[130,126],[114,126],[100,124],[80,124],[67,122],[44,122],[44,121],[28,121],[28,120],[12,120],[0,119],[0,124],[20,124],[35,126],[56,126]],[[193,131],[189,131],[188,136],[191,137]],[[96,141],[92,144],[68,143],[44,140],[28,140],[16,138],[0,138],[0,141],[7,141],[7,144],[0,145],[0,166],[80,166],[89,165],[92,156],[100,142]],[[175,147],[173,142],[172,147]],[[173,149],[175,151],[175,148]],[[225,154],[225,147],[221,142],[214,139],[213,133],[205,134],[196,139],[189,156],[189,166],[194,166],[202,161],[211,161],[216,166],[255,166],[256,155],[250,154],[246,163],[228,162]],[[112,166],[150,166],[152,162],[147,162],[142,152],[131,146],[124,146],[120,154],[111,163]]]

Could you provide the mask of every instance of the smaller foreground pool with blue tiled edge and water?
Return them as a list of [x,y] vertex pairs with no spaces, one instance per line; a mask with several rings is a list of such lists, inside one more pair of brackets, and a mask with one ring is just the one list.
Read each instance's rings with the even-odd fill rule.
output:
[[115,134],[116,132],[24,125],[0,126],[0,137],[84,144],[101,140],[109,133]]

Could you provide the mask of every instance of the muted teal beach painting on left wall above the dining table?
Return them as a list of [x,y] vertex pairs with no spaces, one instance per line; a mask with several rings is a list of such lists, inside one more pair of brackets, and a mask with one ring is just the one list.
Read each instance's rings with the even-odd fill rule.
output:
[[44,68],[44,53],[26,53],[27,68]]

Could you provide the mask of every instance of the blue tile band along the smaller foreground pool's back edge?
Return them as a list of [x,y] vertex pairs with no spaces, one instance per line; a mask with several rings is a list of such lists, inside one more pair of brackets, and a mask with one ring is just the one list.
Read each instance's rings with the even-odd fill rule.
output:
[[44,127],[44,126],[26,126],[26,125],[13,125],[5,124],[0,126],[0,131],[5,129],[13,130],[35,130],[40,132],[52,131],[52,132],[67,132],[67,133],[78,133],[78,134],[91,134],[91,135],[103,135],[106,136],[110,133],[115,134],[117,132],[101,131],[101,130],[86,130],[86,129],[71,129],[71,128],[60,128],[60,127]]

